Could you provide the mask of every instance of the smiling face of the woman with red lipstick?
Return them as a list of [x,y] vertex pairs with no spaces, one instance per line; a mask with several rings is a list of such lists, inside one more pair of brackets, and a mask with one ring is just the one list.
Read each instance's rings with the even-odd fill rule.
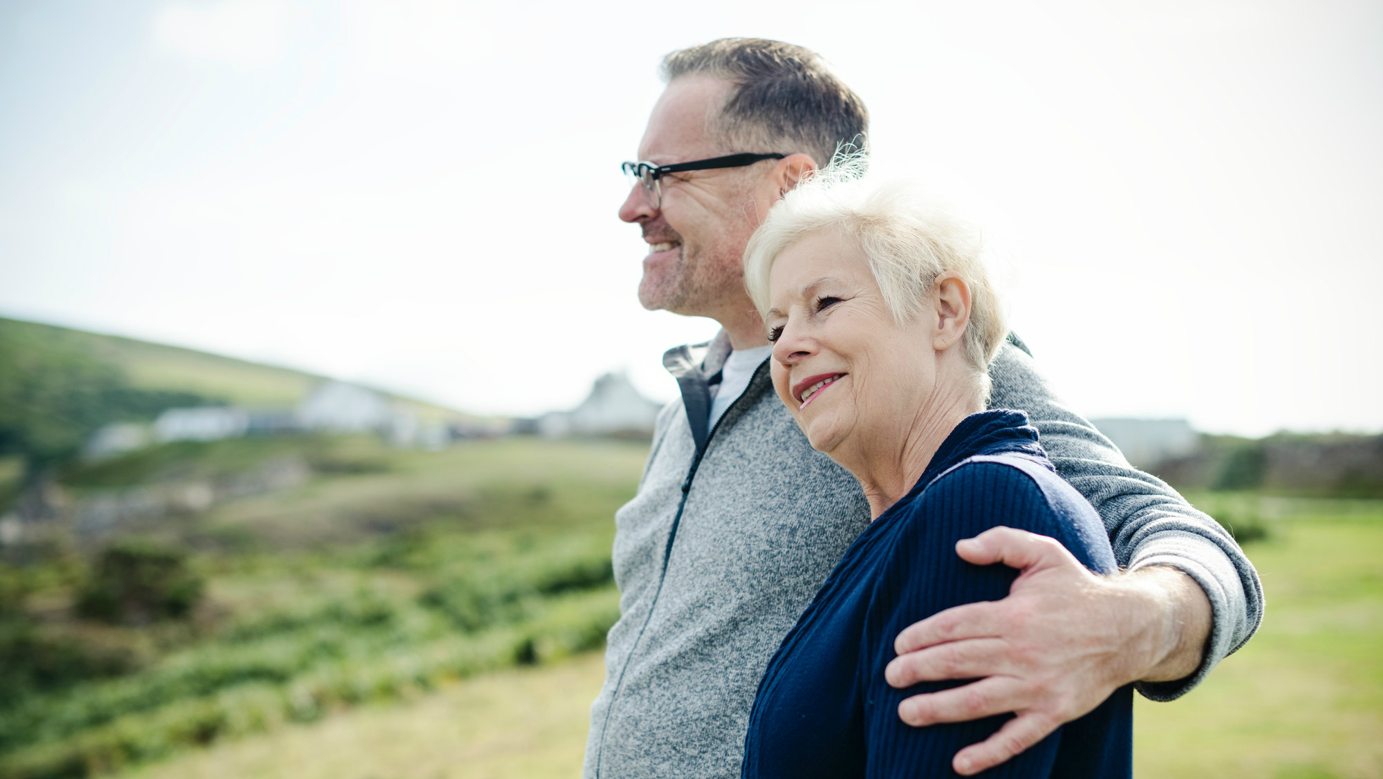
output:
[[779,254],[769,297],[773,388],[813,448],[853,460],[920,421],[936,383],[929,302],[899,325],[864,253],[834,232]]

